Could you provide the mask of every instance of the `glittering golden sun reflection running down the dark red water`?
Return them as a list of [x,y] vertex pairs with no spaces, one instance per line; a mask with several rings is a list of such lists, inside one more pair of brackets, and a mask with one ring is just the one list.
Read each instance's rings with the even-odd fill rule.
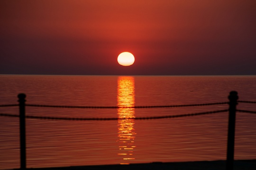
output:
[[[131,107],[135,103],[134,77],[119,76],[118,77],[118,106]],[[119,108],[119,118],[135,118],[134,108]],[[118,120],[118,143],[119,153],[122,161],[120,164],[129,164],[131,160],[135,160],[134,149],[135,141],[134,119]]]

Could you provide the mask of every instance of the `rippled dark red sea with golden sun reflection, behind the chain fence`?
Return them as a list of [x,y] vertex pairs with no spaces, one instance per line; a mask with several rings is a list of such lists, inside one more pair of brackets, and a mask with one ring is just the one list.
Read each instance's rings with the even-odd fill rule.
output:
[[[26,104],[113,106],[26,106],[27,116],[70,118],[26,119],[27,168],[225,160],[229,112],[187,115],[229,104],[149,106],[229,102],[231,91],[239,101],[256,101],[256,76],[0,75],[0,87],[0,106],[18,104],[19,93]],[[237,108],[256,111],[256,103]],[[0,113],[18,115],[18,106],[0,107]],[[136,119],[159,116],[166,118]],[[234,157],[256,159],[254,113],[236,114]],[[19,119],[0,116],[0,169],[19,168],[19,160]]]

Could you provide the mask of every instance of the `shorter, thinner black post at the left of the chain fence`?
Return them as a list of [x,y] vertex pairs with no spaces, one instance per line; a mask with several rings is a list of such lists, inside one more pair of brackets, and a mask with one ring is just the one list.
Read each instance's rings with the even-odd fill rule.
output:
[[26,122],[25,100],[26,94],[18,94],[19,102],[19,137],[20,137],[20,169],[26,170]]

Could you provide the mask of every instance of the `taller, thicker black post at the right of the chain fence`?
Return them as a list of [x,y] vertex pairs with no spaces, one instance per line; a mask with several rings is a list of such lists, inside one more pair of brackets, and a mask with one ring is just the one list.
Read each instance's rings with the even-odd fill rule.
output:
[[226,170],[233,170],[234,166],[234,146],[235,146],[235,125],[236,125],[236,110],[238,104],[238,92],[232,91],[229,93],[229,132],[228,132],[228,147]]

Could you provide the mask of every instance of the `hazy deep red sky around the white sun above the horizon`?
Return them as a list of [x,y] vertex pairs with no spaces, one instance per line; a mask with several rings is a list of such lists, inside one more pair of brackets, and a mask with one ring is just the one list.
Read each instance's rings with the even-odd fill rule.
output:
[[0,0],[0,74],[256,75],[256,0]]

